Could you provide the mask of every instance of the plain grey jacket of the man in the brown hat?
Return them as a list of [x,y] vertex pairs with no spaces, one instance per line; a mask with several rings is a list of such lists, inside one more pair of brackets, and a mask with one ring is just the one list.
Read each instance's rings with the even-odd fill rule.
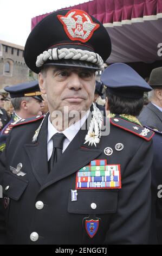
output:
[[162,112],[151,102],[142,109],[138,119],[142,125],[162,131]]

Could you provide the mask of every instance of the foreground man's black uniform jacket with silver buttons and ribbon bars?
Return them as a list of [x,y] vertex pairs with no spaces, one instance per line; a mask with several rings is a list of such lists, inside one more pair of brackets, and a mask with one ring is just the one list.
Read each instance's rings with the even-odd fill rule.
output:
[[[120,118],[117,120],[111,119],[109,135],[101,136],[96,147],[85,144],[87,130],[80,130],[50,173],[48,115],[35,143],[32,138],[41,119],[20,122],[13,127],[0,161],[0,184],[4,192],[0,208],[0,243],[148,243],[153,155],[150,138],[153,133],[142,136],[144,127]],[[133,126],[138,127],[138,131]],[[120,151],[115,149],[118,143],[124,146]],[[107,147],[112,149],[109,156],[104,153]],[[76,189],[77,171],[88,168],[93,160],[120,165],[121,188],[107,189],[99,185],[98,188],[77,189],[73,201],[71,190]],[[12,172],[18,163],[22,163],[24,176]],[[41,202],[40,209],[37,202]],[[98,222],[93,237],[86,230],[87,220],[92,224],[91,231],[94,222]],[[36,241],[30,239],[33,232],[38,235]]]

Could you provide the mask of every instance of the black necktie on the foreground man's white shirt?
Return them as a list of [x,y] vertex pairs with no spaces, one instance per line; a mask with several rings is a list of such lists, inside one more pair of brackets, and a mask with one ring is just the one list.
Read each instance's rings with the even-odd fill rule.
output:
[[53,169],[54,164],[60,159],[62,156],[63,142],[66,136],[63,133],[56,133],[53,137],[53,153],[51,154],[49,160],[49,172]]

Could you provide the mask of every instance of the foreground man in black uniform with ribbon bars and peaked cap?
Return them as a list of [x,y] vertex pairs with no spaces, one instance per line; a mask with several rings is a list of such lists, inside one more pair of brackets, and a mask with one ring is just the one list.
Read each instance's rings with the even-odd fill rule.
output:
[[[106,29],[82,10],[50,14],[30,33],[24,58],[39,73],[49,114],[15,124],[1,154],[0,241],[148,242],[153,132],[140,135],[143,127],[132,132],[132,123],[112,119],[103,136],[95,70],[110,53]],[[79,115],[67,125],[61,114],[73,121],[71,112]]]

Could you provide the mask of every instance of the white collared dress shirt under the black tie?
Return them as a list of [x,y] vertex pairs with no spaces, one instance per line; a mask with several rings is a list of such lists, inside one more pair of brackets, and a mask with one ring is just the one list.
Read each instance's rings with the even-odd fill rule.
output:
[[75,135],[77,134],[77,132],[79,132],[80,128],[82,127],[82,125],[85,123],[86,119],[88,118],[90,111],[88,111],[86,113],[86,115],[84,115],[84,117],[82,119],[80,119],[79,121],[77,121],[77,123],[75,123],[74,125],[69,126],[66,130],[59,132],[56,130],[56,128],[53,126],[53,124],[51,124],[50,121],[50,115],[48,117],[48,135],[47,135],[47,156],[48,156],[48,161],[51,157],[51,154],[53,153],[53,140],[52,137],[58,132],[58,133],[63,133],[64,136],[66,136],[66,139],[64,139],[63,142],[63,150],[62,153],[64,152],[64,150],[66,150],[66,148],[68,147],[68,145],[70,144],[70,142],[74,139]]

